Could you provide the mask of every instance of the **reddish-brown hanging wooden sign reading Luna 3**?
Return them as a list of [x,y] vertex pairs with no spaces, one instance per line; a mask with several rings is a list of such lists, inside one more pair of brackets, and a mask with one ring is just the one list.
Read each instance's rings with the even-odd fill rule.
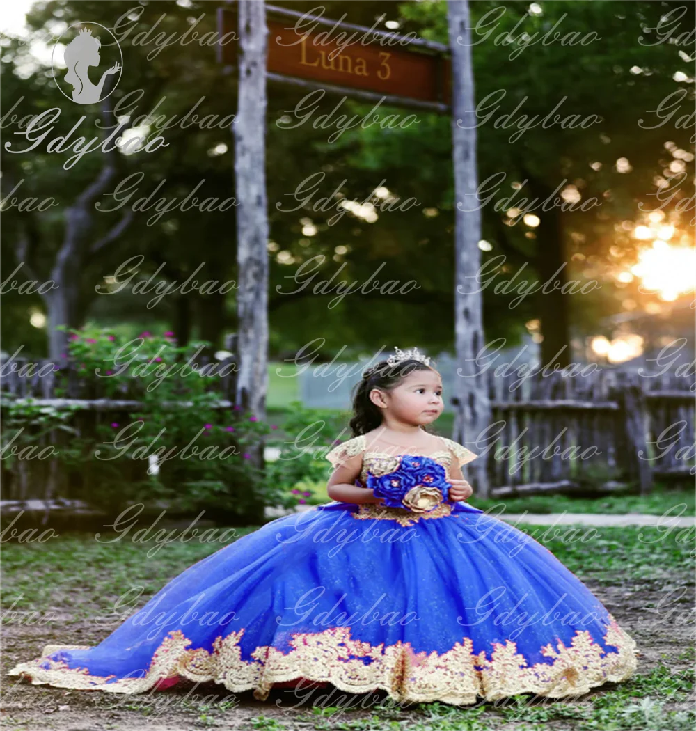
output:
[[[407,38],[404,44],[380,42],[376,38],[341,48],[332,39],[332,35],[336,37],[340,33],[300,32],[293,27],[292,19],[269,19],[267,22],[268,72],[319,82],[314,85],[317,88],[325,83],[418,102],[450,103],[450,59],[442,53],[410,50]],[[220,8],[218,25],[220,33],[236,34],[235,10]],[[218,50],[219,61],[236,64],[235,42],[218,45]]]

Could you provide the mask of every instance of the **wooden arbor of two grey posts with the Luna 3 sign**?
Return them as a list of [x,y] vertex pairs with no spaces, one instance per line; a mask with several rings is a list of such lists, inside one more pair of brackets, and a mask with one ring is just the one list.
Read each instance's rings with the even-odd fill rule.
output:
[[[239,78],[238,120],[234,126],[240,279],[238,403],[261,416],[265,412],[265,109],[266,80],[271,80],[321,89],[327,94],[451,113],[455,193],[460,201],[455,211],[455,346],[464,376],[455,381],[453,403],[457,417],[453,438],[471,443],[488,425],[490,406],[487,391],[474,373],[472,357],[483,344],[482,298],[480,292],[468,293],[465,286],[480,267],[480,211],[477,205],[466,205],[475,197],[477,187],[475,126],[461,124],[474,109],[468,2],[448,0],[449,46],[415,34],[377,31],[257,0],[230,0],[227,5],[218,11],[219,34],[230,34],[238,42],[219,45],[218,61],[228,71],[236,67]],[[474,474],[477,492],[487,496],[483,464],[474,462],[469,470]]]

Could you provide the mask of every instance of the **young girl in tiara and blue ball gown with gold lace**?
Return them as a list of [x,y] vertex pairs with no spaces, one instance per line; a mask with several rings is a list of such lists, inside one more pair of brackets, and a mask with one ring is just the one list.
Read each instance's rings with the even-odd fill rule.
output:
[[[398,349],[397,349],[398,350]],[[199,561],[93,648],[48,645],[10,675],[139,693],[331,683],[400,702],[560,698],[629,678],[636,645],[551,552],[466,504],[476,455],[425,431],[442,380],[417,351],[368,369],[333,502]]]

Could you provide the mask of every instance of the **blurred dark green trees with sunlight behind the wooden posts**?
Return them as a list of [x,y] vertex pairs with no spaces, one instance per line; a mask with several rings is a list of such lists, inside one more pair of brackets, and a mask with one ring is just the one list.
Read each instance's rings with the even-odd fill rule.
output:
[[[214,31],[218,5],[219,0],[181,0],[174,6],[166,0],[149,1],[143,5],[132,34],[154,26],[162,15],[157,31],[181,33],[186,23],[193,23],[202,14],[197,29]],[[311,10],[310,5],[284,3],[300,11]],[[400,32],[447,39],[442,1],[366,0],[351,4],[331,0],[324,7],[328,18],[347,14],[349,22],[372,26],[375,18],[384,14],[380,28],[389,21],[386,27],[396,25]],[[654,194],[659,181],[667,173],[692,169],[694,145],[687,126],[676,127],[673,121],[658,124],[652,111],[661,99],[676,91],[686,94],[684,110],[692,99],[686,67],[688,49],[675,42],[658,43],[655,32],[649,31],[661,13],[676,12],[682,6],[653,1],[569,4],[548,0],[533,4],[512,1],[502,7],[493,0],[474,0],[471,7],[472,19],[479,23],[477,32],[482,34],[473,49],[477,99],[488,99],[488,112],[497,107],[489,121],[482,118],[478,129],[480,181],[501,181],[493,186],[499,189],[493,200],[509,197],[516,188],[520,189],[515,200],[542,199],[560,186],[559,195],[569,203],[580,205],[593,197],[601,202],[590,211],[555,207],[526,216],[515,216],[514,208],[507,213],[496,211],[493,201],[483,208],[480,246],[486,260],[495,260],[497,268],[493,270],[498,272],[483,292],[487,338],[504,336],[509,344],[515,344],[531,333],[541,342],[545,363],[554,359],[564,363],[570,357],[567,346],[573,330],[597,332],[601,317],[659,300],[659,292],[636,295],[641,280],[630,268],[648,247],[645,238],[634,235],[636,227],[646,222],[640,204],[648,210],[657,208]],[[116,0],[55,0],[34,4],[29,21],[37,34],[42,29],[55,29],[59,34],[66,24],[84,18],[113,26],[123,14],[124,4]],[[685,7],[679,21],[681,29],[696,25],[694,15],[694,10]],[[517,53],[518,42],[507,46],[494,42],[506,32],[513,41],[523,33],[542,37],[554,26],[561,36],[578,34],[575,41],[530,43],[521,53]],[[485,38],[488,31],[491,36]],[[592,34],[605,42],[579,45],[579,38],[591,39]],[[644,42],[636,44],[640,37]],[[97,132],[98,119],[105,124],[107,107],[64,103],[53,86],[50,69],[27,56],[27,45],[7,37],[2,42],[4,110],[14,108],[23,117],[58,106],[61,116],[56,130],[69,129],[82,114],[87,116],[85,130]],[[224,74],[216,64],[214,48],[175,44],[153,56],[151,45],[127,42],[126,47],[123,77],[110,100],[116,103],[142,89],[142,98],[132,108],[134,118],[156,108],[158,115],[181,119],[197,102],[200,115],[222,118],[235,112],[236,78]],[[303,91],[271,83],[268,96],[271,357],[296,352],[319,331],[326,338],[322,355],[328,358],[341,348],[344,357],[373,351],[385,344],[387,322],[390,342],[406,342],[417,333],[419,344],[426,349],[436,352],[449,348],[455,201],[448,118],[419,112],[418,123],[405,129],[368,126],[347,131],[328,143],[327,130],[314,129],[311,124],[287,129],[283,124],[304,96]],[[521,115],[543,118],[561,99],[557,110],[561,117],[578,115],[578,120],[583,120],[597,115],[601,123],[564,128],[537,124],[515,139],[516,121]],[[337,102],[336,97],[325,96],[317,114],[329,113]],[[371,107],[347,100],[342,110],[365,115]],[[507,128],[494,124],[503,114],[511,115]],[[636,124],[640,118],[645,124]],[[205,181],[198,192],[200,197],[224,200],[232,196],[230,129],[200,129],[197,125],[181,129],[173,125],[164,132],[168,146],[156,154],[93,153],[65,170],[64,156],[46,153],[45,145],[38,145],[30,154],[12,154],[29,143],[13,134],[17,130],[7,120],[3,126],[4,141],[11,144],[10,150],[4,145],[0,150],[3,197],[22,181],[20,193],[15,195],[39,200],[54,197],[58,206],[29,214],[6,204],[0,277],[4,281],[23,261],[22,272],[27,273],[23,279],[30,277],[31,270],[31,279],[45,281],[58,273],[63,282],[61,300],[15,292],[4,295],[0,315],[3,349],[12,352],[23,345],[34,355],[48,354],[47,326],[61,319],[72,327],[88,321],[118,325],[133,333],[143,328],[172,329],[181,342],[196,337],[222,346],[224,333],[235,330],[233,289],[227,295],[174,294],[148,308],[152,295],[118,291],[106,278],[123,262],[141,255],[133,281],[157,273],[155,279],[182,282],[194,272],[200,282],[234,280],[234,208],[224,212],[175,209],[148,225],[148,213],[126,216],[125,205],[100,213],[94,202],[101,200],[109,204],[106,208],[114,208],[109,194],[118,181],[134,173],[142,173],[134,197],[150,194],[162,181],[155,197],[167,200],[183,199],[200,181]],[[156,134],[154,127],[151,134]],[[290,210],[297,206],[292,192],[302,181],[316,180],[313,175],[323,178],[306,210]],[[136,179],[130,180],[135,183]],[[312,210],[315,200],[337,188],[344,200],[364,202],[380,183],[381,200],[393,197],[398,205],[415,198],[417,205],[382,212],[368,202],[344,211],[333,224],[338,200],[328,211]],[[680,238],[687,235],[688,221],[678,224],[673,219],[678,217],[674,209],[679,197],[689,194],[681,191],[664,207],[663,223],[673,226],[667,246],[684,246]],[[653,221],[656,225],[659,222]],[[667,254],[669,251],[665,253],[665,268],[673,261]],[[298,267],[314,257],[321,257],[316,276],[311,284],[301,287]],[[375,279],[401,284],[415,280],[417,288],[404,294],[374,291],[348,295],[329,307],[336,298],[338,281],[362,284],[383,262]],[[494,291],[494,284],[512,279],[517,272],[516,283],[542,283],[559,267],[561,273],[556,279],[561,282],[564,278],[597,279],[601,287],[582,298],[560,292],[528,297],[515,307],[510,306],[515,292]],[[308,296],[314,284],[334,275],[328,294]],[[107,292],[111,293],[105,296]],[[56,347],[58,344],[54,344],[54,355]]]

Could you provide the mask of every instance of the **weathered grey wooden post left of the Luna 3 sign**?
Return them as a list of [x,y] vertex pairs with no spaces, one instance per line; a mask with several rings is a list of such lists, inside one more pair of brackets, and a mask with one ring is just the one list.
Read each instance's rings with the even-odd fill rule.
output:
[[[238,0],[239,91],[235,121],[237,194],[237,294],[239,373],[236,399],[265,418],[268,389],[268,202],[265,125],[268,28],[265,4]],[[263,441],[249,446],[254,464],[263,467]],[[262,501],[252,511],[263,518]],[[249,516],[251,517],[251,516]]]

